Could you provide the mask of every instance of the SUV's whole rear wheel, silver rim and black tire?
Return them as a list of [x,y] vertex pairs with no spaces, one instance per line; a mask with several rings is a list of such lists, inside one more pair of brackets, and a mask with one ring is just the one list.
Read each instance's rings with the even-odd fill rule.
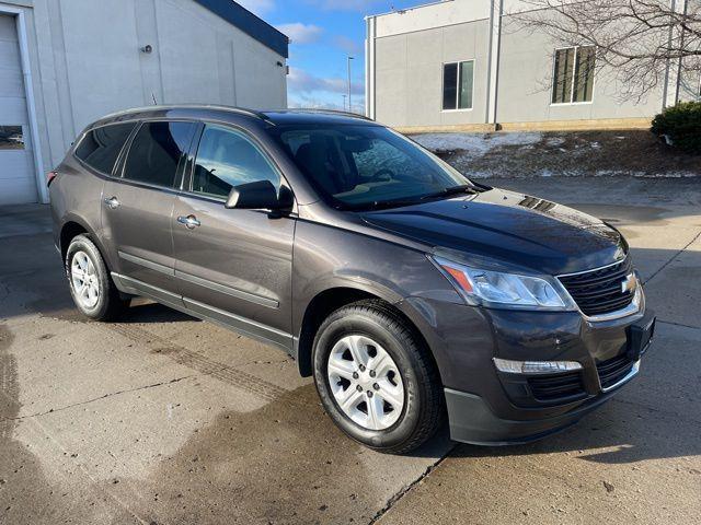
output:
[[66,252],[66,276],[78,310],[95,320],[117,317],[128,305],[119,296],[95,244],[84,234],[77,235]]

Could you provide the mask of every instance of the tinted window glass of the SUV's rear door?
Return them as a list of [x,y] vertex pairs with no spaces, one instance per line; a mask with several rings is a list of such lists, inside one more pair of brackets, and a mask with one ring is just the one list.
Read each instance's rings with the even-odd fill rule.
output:
[[136,133],[124,178],[171,187],[177,163],[187,151],[193,130],[189,122],[147,122]]

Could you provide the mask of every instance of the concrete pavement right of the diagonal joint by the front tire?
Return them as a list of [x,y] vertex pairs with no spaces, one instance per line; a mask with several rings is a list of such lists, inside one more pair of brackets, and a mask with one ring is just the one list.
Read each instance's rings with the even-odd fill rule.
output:
[[696,179],[502,179],[605,218],[658,314],[640,376],[527,446],[460,445],[381,524],[696,524],[701,516],[701,186]]

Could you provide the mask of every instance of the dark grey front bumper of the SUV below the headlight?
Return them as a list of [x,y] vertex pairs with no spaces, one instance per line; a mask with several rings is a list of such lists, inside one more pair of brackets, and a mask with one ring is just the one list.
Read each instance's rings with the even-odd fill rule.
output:
[[[433,319],[422,332],[441,373],[451,439],[489,445],[544,438],[601,406],[637,374],[648,343],[635,346],[636,330],[654,329],[655,323],[645,310],[591,323],[572,312],[487,311],[439,301],[421,306]],[[577,388],[543,397],[549,390],[537,390],[533,377],[498,372],[495,357],[577,361]]]

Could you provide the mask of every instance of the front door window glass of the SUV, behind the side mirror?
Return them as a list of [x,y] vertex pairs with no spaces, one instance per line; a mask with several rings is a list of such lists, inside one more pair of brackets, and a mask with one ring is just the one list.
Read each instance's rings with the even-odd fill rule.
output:
[[240,132],[207,126],[197,150],[193,191],[226,198],[233,186],[258,180],[280,185],[277,171],[258,148]]

